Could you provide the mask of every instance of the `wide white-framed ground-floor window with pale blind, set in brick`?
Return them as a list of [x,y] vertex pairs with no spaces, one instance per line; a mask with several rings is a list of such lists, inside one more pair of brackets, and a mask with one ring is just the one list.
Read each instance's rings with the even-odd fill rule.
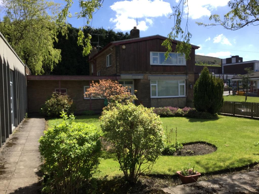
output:
[[185,80],[150,80],[150,97],[185,97]]

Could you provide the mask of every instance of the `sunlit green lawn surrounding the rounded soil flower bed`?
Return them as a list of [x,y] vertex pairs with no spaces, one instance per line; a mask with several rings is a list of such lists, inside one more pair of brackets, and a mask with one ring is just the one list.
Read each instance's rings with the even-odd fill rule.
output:
[[[172,175],[189,163],[201,173],[241,167],[259,160],[259,149],[253,143],[259,139],[259,120],[219,116],[218,120],[184,117],[161,118],[164,128],[176,128],[181,143],[206,141],[217,151],[201,156],[161,156],[152,174]],[[98,116],[77,116],[76,121],[93,123],[99,128]],[[49,120],[49,126],[61,119]],[[99,165],[100,176],[122,175],[111,154],[104,152]]]

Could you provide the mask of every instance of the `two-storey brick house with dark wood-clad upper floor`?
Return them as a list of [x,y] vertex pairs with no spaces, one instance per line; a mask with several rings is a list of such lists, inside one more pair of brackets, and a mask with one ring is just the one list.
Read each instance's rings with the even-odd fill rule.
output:
[[[195,49],[192,45],[190,60],[184,54],[170,53],[161,44],[166,37],[160,35],[139,38],[139,29],[134,27],[131,39],[109,43],[92,55],[90,74],[93,76],[117,76],[120,84],[137,90],[137,104],[146,107],[185,107],[193,100],[195,83]],[[172,41],[172,51],[177,41]],[[94,51],[96,52],[96,51]]]

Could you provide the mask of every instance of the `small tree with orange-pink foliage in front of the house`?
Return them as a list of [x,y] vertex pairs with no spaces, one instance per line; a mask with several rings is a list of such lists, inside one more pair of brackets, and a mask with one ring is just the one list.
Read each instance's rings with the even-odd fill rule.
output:
[[135,95],[131,95],[129,89],[117,81],[103,79],[99,80],[99,83],[92,82],[84,95],[93,98],[106,98],[108,103],[137,100]]

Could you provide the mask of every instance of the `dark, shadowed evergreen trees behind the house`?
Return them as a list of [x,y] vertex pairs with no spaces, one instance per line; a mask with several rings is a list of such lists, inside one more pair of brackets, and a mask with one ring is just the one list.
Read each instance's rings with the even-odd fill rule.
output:
[[[77,45],[79,28],[67,25],[67,34],[57,35],[58,42],[54,42],[54,48],[61,50],[61,61],[54,67],[53,71],[45,71],[45,74],[52,75],[89,75],[88,56],[83,56],[83,48]],[[86,26],[83,30],[85,36],[92,34],[91,46],[97,46],[99,39],[99,49],[104,48],[112,41],[129,39],[130,35],[123,32],[114,32],[103,28],[92,28]],[[95,35],[95,34],[99,34]]]

